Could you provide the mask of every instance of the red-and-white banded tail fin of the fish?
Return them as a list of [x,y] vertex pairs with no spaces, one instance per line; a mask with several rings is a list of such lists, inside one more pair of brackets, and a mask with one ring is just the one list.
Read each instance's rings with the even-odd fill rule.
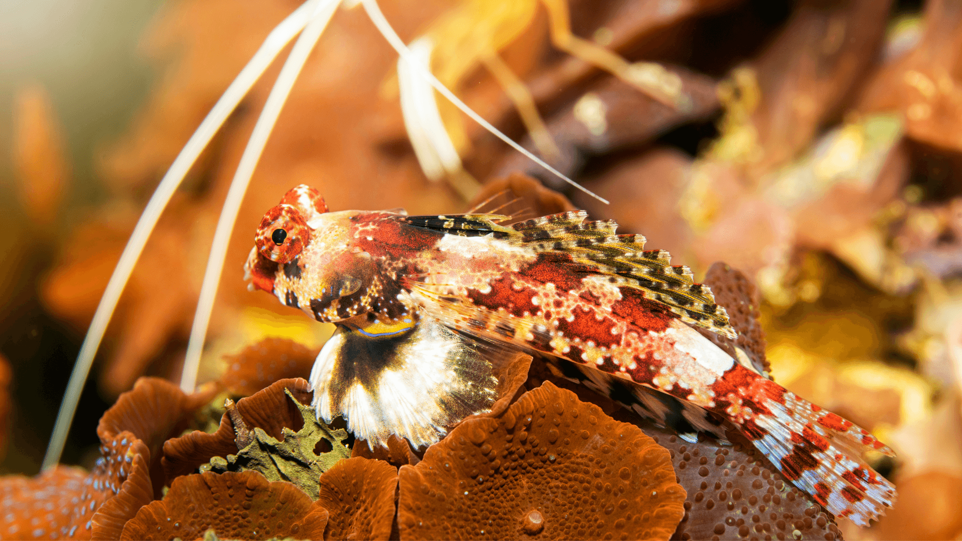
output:
[[[772,386],[777,386],[772,382]],[[780,387],[779,387],[780,389]],[[761,430],[755,447],[783,476],[839,517],[869,526],[896,499],[895,486],[861,458],[863,451],[895,456],[868,430],[793,393],[760,404],[768,409],[752,418]]]

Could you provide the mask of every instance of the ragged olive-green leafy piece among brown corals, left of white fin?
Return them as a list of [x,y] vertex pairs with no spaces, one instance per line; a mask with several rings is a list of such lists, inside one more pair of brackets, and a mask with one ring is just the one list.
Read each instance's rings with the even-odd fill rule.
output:
[[[226,459],[221,456],[211,458],[211,462],[201,466],[200,471],[221,474],[254,470],[270,481],[292,482],[312,500],[316,500],[320,492],[320,475],[339,460],[351,456],[350,449],[343,443],[347,439],[347,431],[342,428],[333,429],[318,422],[313,407],[294,399],[288,389],[284,392],[304,418],[303,428],[294,432],[285,426],[284,439],[279,441],[262,428],[255,427],[250,430],[245,425],[235,424],[239,447],[241,442],[250,443],[237,454],[228,454]],[[314,450],[321,440],[330,445],[331,451],[318,455]]]

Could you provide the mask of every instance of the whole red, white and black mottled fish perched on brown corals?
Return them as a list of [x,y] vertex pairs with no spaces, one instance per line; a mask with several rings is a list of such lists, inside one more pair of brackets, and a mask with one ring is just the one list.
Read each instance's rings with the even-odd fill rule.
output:
[[[860,457],[892,452],[702,336],[694,327],[736,333],[689,270],[644,250],[641,236],[617,235],[615,222],[326,210],[313,189],[291,190],[245,264],[254,287],[338,323],[311,374],[318,417],[343,415],[367,441],[394,433],[430,444],[490,407],[498,348],[534,351],[597,384],[654,389],[717,414],[857,524],[894,501],[893,485]],[[648,403],[636,409],[659,407],[634,394]]]

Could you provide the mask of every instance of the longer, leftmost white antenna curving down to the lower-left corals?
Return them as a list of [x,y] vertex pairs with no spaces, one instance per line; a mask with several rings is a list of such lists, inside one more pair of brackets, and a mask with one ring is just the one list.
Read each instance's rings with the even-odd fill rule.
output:
[[157,186],[157,190],[150,197],[147,206],[143,209],[143,214],[134,227],[134,232],[127,241],[123,253],[120,254],[120,261],[114,268],[110,281],[104,295],[100,297],[100,303],[93,314],[87,330],[87,337],[77,355],[77,362],[73,366],[73,373],[70,374],[70,381],[67,383],[66,391],[63,394],[60,412],[57,414],[57,423],[54,425],[53,433],[50,436],[50,444],[47,446],[47,453],[43,457],[44,470],[56,466],[60,462],[63,453],[63,445],[66,443],[67,432],[70,424],[73,423],[73,416],[77,411],[77,402],[80,401],[80,394],[87,383],[90,373],[90,366],[93,364],[93,357],[100,347],[100,342],[104,338],[107,330],[107,323],[114,315],[117,301],[123,292],[127,281],[130,279],[131,272],[137,264],[143,246],[146,245],[151,231],[161,218],[161,213],[170,197],[173,196],[181,181],[187,175],[190,167],[197,160],[197,156],[204,150],[207,143],[211,142],[215,133],[237,108],[243,96],[254,85],[266,70],[267,66],[274,61],[274,58],[281,52],[294,36],[300,32],[307,24],[310,13],[306,6],[301,6],[288,18],[284,19],[264,40],[264,44],[257,50],[250,62],[241,69],[241,73],[231,83],[231,86],[224,90],[223,95],[215,103],[214,108],[207,114],[200,123],[197,131],[190,137],[190,141],[184,145],[184,149],[167,169],[167,173]]

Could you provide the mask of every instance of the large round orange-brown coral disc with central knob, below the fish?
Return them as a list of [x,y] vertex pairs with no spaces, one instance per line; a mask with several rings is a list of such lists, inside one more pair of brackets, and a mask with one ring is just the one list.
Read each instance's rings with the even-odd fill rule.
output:
[[684,514],[664,448],[550,382],[399,477],[405,539],[666,539]]

